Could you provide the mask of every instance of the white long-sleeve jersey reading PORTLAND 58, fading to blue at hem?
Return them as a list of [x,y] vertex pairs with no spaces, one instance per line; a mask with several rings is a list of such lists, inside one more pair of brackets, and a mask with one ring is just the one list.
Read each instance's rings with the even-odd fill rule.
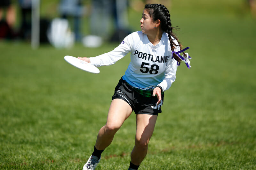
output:
[[[175,51],[180,51],[180,48],[175,46]],[[176,79],[177,61],[172,56],[167,33],[163,33],[161,41],[155,46],[141,31],[131,33],[114,50],[90,57],[90,62],[96,67],[111,65],[129,52],[131,62],[123,76],[127,83],[145,90],[153,90],[157,85],[163,91],[171,87]]]

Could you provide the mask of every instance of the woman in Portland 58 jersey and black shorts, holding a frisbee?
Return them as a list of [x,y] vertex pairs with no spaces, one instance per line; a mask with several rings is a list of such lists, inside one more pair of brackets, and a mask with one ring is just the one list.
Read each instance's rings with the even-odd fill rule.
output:
[[162,112],[164,91],[174,82],[181,59],[188,63],[188,58],[179,55],[180,43],[172,33],[170,13],[164,5],[146,4],[140,27],[141,31],[125,37],[111,52],[78,57],[100,67],[114,64],[131,52],[131,63],[115,88],[107,123],[100,129],[94,151],[83,170],[95,169],[101,153],[132,111],[136,114],[136,136],[129,169],[138,169],[146,157],[157,115]]

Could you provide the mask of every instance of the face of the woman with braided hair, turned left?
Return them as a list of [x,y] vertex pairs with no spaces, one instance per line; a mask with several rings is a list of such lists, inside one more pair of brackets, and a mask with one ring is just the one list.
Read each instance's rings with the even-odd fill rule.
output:
[[155,27],[152,18],[149,16],[148,11],[144,9],[142,18],[140,19],[140,28],[142,33],[150,33]]

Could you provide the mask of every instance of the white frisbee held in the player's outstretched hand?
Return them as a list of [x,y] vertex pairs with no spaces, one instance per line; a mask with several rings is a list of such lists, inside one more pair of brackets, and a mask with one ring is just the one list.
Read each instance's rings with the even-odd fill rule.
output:
[[68,62],[69,64],[75,66],[78,69],[90,72],[90,73],[94,73],[94,74],[99,74],[100,70],[95,67],[94,65],[87,63],[83,60],[80,60],[76,57],[70,56],[70,55],[66,55],[64,57],[64,60],[66,60],[66,62]]

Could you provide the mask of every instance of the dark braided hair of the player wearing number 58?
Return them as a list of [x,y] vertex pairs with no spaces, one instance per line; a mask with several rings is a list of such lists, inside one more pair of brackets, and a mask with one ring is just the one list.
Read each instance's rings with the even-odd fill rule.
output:
[[[149,16],[152,18],[153,21],[156,21],[157,19],[161,21],[160,22],[161,29],[165,33],[168,33],[172,51],[174,51],[174,45],[179,46],[181,50],[181,44],[178,38],[174,35],[174,33],[172,33],[172,28],[177,28],[177,27],[172,27],[171,18],[170,18],[171,15],[168,9],[162,4],[146,4],[145,9],[147,10]],[[172,37],[175,40],[177,40],[179,44],[175,44],[173,42]],[[181,59],[176,54],[173,54],[173,57],[178,62],[181,62]]]

